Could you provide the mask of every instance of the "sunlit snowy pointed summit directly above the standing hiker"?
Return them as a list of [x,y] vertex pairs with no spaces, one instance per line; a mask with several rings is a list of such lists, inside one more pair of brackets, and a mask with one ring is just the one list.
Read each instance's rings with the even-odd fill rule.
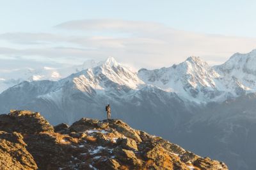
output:
[[136,72],[132,72],[111,57],[106,59],[102,65],[74,73],[61,82],[63,82],[61,86],[65,82],[70,82],[75,89],[90,95],[106,91],[120,92],[124,89],[138,89],[144,84]]

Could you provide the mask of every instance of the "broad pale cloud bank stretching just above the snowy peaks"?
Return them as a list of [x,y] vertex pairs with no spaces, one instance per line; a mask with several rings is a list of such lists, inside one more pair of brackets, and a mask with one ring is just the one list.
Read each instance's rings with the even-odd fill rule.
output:
[[156,68],[180,63],[188,56],[216,65],[235,52],[256,47],[256,38],[180,31],[157,22],[72,20],[55,28],[60,31],[0,35],[1,42],[21,45],[19,49],[0,47],[0,56],[74,64],[113,56],[135,68]]

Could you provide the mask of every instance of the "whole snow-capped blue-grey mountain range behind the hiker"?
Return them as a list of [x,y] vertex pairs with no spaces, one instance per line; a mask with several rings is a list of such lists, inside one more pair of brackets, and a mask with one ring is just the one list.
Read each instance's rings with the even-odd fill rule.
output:
[[198,57],[134,72],[108,58],[58,81],[23,81],[0,94],[0,112],[40,111],[52,124],[113,118],[156,134],[230,169],[254,169],[256,50],[223,65]]

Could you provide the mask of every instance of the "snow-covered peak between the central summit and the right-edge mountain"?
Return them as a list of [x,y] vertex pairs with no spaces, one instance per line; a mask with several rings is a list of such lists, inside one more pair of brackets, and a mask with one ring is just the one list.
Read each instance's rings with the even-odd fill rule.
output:
[[[215,80],[220,76],[205,61],[189,57],[179,65],[156,70],[140,70],[139,77],[146,83],[173,91],[182,98],[194,102],[209,100],[216,88]],[[211,95],[213,96],[213,95]]]

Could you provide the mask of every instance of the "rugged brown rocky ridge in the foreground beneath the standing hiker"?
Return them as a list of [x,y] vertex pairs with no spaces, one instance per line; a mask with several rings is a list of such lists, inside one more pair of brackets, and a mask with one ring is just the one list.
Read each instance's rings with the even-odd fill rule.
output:
[[3,169],[227,169],[121,120],[49,125],[39,113],[0,115]]

